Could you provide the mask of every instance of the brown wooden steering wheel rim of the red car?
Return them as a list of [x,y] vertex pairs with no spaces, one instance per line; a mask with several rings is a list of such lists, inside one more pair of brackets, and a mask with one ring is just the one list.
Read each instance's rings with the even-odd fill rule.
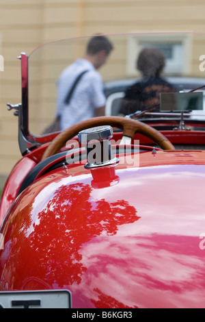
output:
[[81,130],[100,125],[111,125],[112,127],[118,127],[122,129],[123,136],[128,136],[130,138],[133,138],[136,132],[143,134],[144,136],[153,140],[156,145],[161,147],[161,149],[174,150],[172,143],[165,136],[163,136],[161,132],[154,129],[154,127],[150,127],[145,123],[141,123],[133,119],[126,119],[120,116],[98,116],[94,117],[93,119],[88,119],[74,124],[61,132],[55,137],[49,147],[47,147],[46,151],[44,151],[42,160],[57,153],[57,151],[59,151],[59,149],[61,149],[61,147],[63,147],[68,140],[74,138],[74,136],[77,136]]

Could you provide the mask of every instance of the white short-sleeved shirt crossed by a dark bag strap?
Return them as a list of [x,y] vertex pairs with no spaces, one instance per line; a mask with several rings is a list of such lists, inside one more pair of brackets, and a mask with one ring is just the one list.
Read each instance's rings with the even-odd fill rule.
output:
[[[74,81],[83,71],[87,73],[75,87],[70,103],[64,103]],[[94,117],[95,109],[105,106],[105,102],[102,77],[88,60],[78,59],[61,73],[57,81],[56,114],[61,115],[62,130]]]

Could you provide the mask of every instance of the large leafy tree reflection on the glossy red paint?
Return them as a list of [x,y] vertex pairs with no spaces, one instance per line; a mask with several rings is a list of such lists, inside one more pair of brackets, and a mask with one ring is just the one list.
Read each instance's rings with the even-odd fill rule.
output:
[[114,235],[119,225],[139,219],[127,201],[94,201],[91,193],[89,184],[61,186],[41,212],[36,212],[34,199],[33,204],[23,208],[22,221],[14,216],[9,238],[18,235],[18,243],[10,249],[12,257],[8,256],[9,265],[4,270],[4,274],[15,272],[9,288],[21,288],[28,276],[40,277],[50,286],[56,281],[58,288],[79,284],[86,271],[81,262],[82,245],[102,233]]

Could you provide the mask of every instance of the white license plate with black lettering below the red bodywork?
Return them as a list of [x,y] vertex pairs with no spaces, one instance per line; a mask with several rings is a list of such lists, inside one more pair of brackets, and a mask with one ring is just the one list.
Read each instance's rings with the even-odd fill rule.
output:
[[0,291],[0,308],[71,308],[69,290]]

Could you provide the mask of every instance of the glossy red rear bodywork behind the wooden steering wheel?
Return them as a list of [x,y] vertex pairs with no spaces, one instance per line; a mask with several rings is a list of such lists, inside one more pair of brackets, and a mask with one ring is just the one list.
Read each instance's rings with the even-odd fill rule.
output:
[[74,308],[204,307],[204,157],[148,151],[139,168],[37,179],[1,228],[0,290],[67,288]]

